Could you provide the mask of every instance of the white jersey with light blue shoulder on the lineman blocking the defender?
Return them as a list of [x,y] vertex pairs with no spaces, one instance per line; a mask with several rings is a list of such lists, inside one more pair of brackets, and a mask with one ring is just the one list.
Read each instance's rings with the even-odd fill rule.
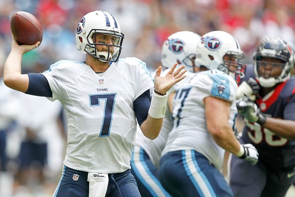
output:
[[173,100],[173,129],[169,133],[162,156],[177,150],[196,150],[221,169],[224,150],[207,131],[203,99],[209,96],[232,103],[229,123],[236,116],[235,80],[219,70],[207,70],[192,75],[190,82],[181,84]]

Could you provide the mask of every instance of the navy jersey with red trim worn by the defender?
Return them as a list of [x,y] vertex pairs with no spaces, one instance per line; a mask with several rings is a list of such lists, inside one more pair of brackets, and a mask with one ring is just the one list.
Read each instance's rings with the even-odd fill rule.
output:
[[[243,80],[253,77],[252,66],[247,67]],[[268,117],[295,120],[295,77],[278,84],[274,91],[264,98],[255,100],[261,111]],[[241,140],[253,144],[259,152],[259,160],[275,170],[289,170],[295,167],[295,140],[275,135],[258,123],[249,123],[246,119]]]

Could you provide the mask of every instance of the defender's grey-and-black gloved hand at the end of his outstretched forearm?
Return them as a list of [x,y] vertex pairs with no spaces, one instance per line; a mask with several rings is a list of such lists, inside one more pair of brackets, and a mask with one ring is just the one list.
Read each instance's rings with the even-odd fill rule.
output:
[[258,106],[250,99],[240,98],[236,100],[237,112],[251,123],[264,125],[266,117],[260,112]]

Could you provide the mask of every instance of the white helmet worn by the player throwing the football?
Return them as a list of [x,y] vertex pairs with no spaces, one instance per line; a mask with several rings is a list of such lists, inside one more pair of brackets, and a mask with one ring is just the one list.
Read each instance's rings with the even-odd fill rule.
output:
[[[94,43],[93,33],[103,33],[116,37],[113,44]],[[83,54],[89,54],[101,62],[117,62],[122,49],[124,34],[120,31],[117,19],[105,11],[93,11],[86,14],[76,29],[76,47]],[[108,46],[108,52],[97,51],[96,45]],[[110,47],[114,53],[110,53]]]

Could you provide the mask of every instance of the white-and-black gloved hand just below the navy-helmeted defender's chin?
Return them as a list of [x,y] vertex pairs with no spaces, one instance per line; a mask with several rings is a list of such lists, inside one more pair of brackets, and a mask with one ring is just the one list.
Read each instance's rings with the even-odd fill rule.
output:
[[251,100],[256,100],[256,95],[259,94],[260,86],[253,78],[243,81],[237,88],[236,99],[248,97]]

